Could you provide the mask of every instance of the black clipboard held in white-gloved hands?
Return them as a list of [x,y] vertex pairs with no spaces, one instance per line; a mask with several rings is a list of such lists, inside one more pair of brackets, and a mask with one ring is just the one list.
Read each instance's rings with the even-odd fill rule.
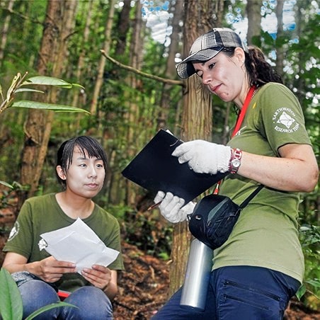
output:
[[159,130],[134,159],[122,171],[122,175],[142,188],[157,192],[171,192],[183,198],[185,203],[195,199],[215,185],[228,173],[195,173],[188,163],[179,164],[172,152],[183,142]]

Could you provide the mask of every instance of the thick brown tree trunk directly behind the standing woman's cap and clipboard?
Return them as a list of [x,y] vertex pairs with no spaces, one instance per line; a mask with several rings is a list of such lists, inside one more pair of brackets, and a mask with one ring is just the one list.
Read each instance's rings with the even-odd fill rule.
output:
[[[193,41],[202,33],[214,28],[221,12],[215,13],[215,8],[222,10],[224,1],[184,1],[183,17],[183,57],[187,57]],[[181,138],[211,140],[212,137],[212,98],[203,88],[197,76],[185,80],[185,94],[183,96],[183,113]],[[171,251],[170,293],[181,287],[185,276],[190,245],[188,224],[176,224],[173,229],[173,246]]]

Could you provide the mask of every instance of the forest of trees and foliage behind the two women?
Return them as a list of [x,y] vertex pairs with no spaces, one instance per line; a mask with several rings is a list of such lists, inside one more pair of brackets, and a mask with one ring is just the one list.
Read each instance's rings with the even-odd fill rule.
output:
[[[290,5],[292,21],[283,21]],[[190,233],[158,210],[154,194],[121,171],[161,129],[183,140],[226,143],[236,114],[203,90],[196,77],[181,80],[176,62],[201,33],[241,28],[296,94],[319,159],[319,3],[317,1],[0,1],[0,84],[3,99],[16,74],[54,76],[70,86],[42,86],[45,94],[15,93],[13,100],[71,105],[88,113],[0,109],[0,214],[14,215],[26,198],[56,192],[55,154],[76,135],[96,137],[108,154],[105,187],[96,202],[117,217],[123,241],[168,261],[168,294],[183,281]],[[263,27],[273,17],[275,32]],[[28,74],[25,74],[27,73]],[[26,106],[26,105],[24,105]],[[318,161],[319,163],[319,161]],[[302,195],[299,234],[306,258],[302,302],[319,309],[319,185]],[[10,226],[0,225],[1,234]],[[0,261],[1,263],[1,261]]]

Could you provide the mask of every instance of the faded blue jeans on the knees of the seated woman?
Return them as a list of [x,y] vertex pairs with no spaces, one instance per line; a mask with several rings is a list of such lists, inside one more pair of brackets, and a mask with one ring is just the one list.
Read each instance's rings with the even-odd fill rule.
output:
[[[47,304],[59,302],[55,288],[45,281],[28,279],[17,282],[17,284],[23,301],[23,319]],[[58,307],[40,314],[35,319],[113,319],[113,307],[110,299],[97,287],[81,287],[64,299],[64,302],[78,308]]]

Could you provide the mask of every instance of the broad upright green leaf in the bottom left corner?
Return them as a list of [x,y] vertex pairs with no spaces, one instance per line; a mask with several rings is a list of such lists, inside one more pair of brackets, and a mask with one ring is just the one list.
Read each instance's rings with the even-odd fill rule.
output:
[[0,270],[0,314],[4,320],[19,320],[23,314],[23,304],[16,282],[4,268]]

